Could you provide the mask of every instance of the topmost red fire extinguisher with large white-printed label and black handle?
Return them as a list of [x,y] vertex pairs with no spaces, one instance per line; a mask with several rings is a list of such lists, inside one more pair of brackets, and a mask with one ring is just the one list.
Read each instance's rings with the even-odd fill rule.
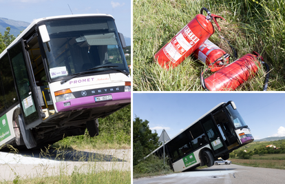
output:
[[[202,14],[203,10],[207,12],[207,17]],[[187,23],[169,43],[154,55],[158,64],[166,69],[170,66],[174,68],[179,65],[215,32],[211,20],[215,21],[220,30],[220,26],[216,21],[217,18],[224,19],[211,14],[207,8],[202,8],[200,14]]]

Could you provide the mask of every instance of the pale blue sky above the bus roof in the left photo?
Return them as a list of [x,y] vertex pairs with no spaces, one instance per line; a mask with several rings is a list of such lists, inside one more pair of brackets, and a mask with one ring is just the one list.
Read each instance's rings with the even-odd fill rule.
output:
[[0,0],[0,17],[28,23],[43,17],[72,14],[70,9],[73,14],[111,14],[118,32],[131,38],[131,0]]

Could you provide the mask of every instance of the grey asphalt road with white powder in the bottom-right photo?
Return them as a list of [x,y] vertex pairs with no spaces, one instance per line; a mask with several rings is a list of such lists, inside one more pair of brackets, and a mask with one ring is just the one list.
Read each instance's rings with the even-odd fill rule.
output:
[[241,165],[213,165],[212,167],[191,172],[134,179],[134,184],[158,183],[225,183],[225,184],[280,184],[285,183],[285,170]]

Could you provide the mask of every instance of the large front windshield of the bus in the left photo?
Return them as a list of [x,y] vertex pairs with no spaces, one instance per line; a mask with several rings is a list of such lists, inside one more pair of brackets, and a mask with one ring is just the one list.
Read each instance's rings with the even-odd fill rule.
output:
[[111,17],[57,19],[44,24],[50,36],[43,43],[50,79],[87,71],[129,74]]

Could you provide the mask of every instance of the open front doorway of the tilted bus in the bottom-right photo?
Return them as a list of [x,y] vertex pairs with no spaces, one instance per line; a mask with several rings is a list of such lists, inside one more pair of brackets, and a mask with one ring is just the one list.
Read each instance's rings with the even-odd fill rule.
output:
[[228,150],[231,150],[231,148],[239,145],[239,143],[237,142],[235,130],[233,129],[233,126],[231,126],[231,120],[228,118],[225,112],[226,110],[222,109],[213,114],[213,116],[215,123],[218,126],[218,130],[220,131],[220,134],[222,134],[222,138],[228,147]]

